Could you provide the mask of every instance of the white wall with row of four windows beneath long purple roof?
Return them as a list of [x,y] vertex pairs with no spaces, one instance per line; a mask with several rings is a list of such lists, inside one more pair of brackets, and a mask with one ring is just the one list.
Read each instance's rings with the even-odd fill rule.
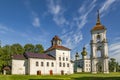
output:
[[[37,71],[41,71],[41,75],[50,74],[50,70],[53,71],[53,74],[56,74],[55,60],[30,58],[29,61],[30,75],[37,75]],[[38,66],[36,66],[36,62],[38,62]],[[41,66],[41,62],[43,62],[43,66]],[[47,62],[49,62],[49,66],[47,66]],[[54,63],[54,67],[51,67],[52,62]]]

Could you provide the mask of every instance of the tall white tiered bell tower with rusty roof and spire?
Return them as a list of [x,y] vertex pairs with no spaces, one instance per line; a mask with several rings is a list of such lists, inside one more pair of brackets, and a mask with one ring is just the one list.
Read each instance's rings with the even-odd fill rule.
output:
[[91,30],[91,36],[91,72],[109,73],[106,28],[100,22],[99,11],[96,25]]

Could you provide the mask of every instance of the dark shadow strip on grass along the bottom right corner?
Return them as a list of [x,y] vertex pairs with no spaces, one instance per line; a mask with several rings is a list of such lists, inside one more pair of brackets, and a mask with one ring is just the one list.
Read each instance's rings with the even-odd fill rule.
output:
[[120,80],[120,77],[80,77],[71,80]]

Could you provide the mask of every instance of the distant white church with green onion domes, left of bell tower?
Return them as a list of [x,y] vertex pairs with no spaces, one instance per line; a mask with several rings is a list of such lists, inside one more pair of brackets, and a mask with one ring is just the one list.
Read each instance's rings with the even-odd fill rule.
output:
[[81,55],[82,58],[80,59],[79,53],[77,52],[75,54],[74,72],[91,72],[91,60],[87,56],[87,51],[85,47],[83,47]]

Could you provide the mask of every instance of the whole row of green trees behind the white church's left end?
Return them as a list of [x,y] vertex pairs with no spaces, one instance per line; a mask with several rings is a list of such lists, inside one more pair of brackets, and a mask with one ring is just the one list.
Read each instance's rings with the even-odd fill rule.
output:
[[0,73],[4,66],[11,66],[11,56],[13,54],[23,54],[24,52],[43,53],[41,44],[26,44],[24,47],[18,43],[0,47]]

